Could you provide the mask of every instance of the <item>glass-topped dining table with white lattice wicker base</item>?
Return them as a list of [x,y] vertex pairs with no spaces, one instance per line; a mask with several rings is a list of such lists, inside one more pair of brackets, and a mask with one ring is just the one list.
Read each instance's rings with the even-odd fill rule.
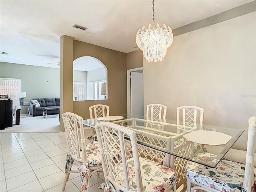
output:
[[[184,184],[184,190],[187,160],[214,168],[244,132],[235,128],[191,124],[176,120],[143,116],[127,118],[126,114],[121,116],[124,118],[111,122],[137,133],[137,143],[140,146],[138,149],[141,149],[140,152],[144,156],[147,156],[146,153],[154,153],[154,158],[158,160],[164,158],[159,161],[160,163],[178,170],[177,187]],[[91,128],[95,128],[100,122],[102,120],[83,120],[83,124]]]

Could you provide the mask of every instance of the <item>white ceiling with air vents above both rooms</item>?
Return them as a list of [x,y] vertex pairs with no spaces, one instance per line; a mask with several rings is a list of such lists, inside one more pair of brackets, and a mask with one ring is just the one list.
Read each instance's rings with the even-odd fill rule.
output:
[[[155,0],[155,21],[175,29],[251,1]],[[1,62],[58,68],[62,35],[124,53],[137,50],[138,29],[152,24],[152,0],[1,0],[0,19],[0,51],[9,53]]]

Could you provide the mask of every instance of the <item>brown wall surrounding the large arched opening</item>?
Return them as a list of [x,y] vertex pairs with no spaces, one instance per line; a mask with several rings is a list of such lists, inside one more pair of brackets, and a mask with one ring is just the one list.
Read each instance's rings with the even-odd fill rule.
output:
[[90,118],[89,106],[105,104],[109,106],[110,115],[126,114],[126,54],[74,40],[73,60],[82,56],[97,58],[108,69],[108,99],[75,101],[74,113],[82,116],[84,119],[88,119]]

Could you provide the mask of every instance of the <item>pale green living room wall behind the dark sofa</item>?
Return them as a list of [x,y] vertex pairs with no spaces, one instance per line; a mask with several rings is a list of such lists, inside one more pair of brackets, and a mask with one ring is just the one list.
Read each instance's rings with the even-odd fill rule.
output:
[[[60,97],[60,70],[41,66],[1,62],[0,77],[21,79],[21,91],[26,91],[24,104],[29,104],[32,98]],[[26,114],[22,107],[21,114]]]

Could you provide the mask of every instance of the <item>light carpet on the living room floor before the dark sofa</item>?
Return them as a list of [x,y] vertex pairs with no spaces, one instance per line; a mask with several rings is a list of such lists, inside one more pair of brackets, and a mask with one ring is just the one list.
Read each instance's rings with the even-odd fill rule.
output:
[[44,118],[43,116],[28,117],[20,116],[20,124],[15,125],[15,119],[13,120],[14,125],[12,127],[6,127],[2,132],[41,132],[41,133],[58,133],[60,132],[60,122],[59,117],[54,116],[49,118]]

